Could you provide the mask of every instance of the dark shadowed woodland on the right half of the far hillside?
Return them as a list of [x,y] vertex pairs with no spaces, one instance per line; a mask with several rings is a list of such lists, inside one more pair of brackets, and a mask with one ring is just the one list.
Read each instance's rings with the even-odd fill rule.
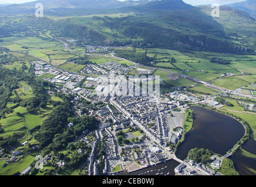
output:
[[[194,15],[192,14],[192,16]],[[169,22],[173,17],[178,17],[176,19],[181,20],[182,23],[177,23],[180,27],[187,27],[186,24],[183,25],[183,23],[187,23],[193,27],[193,31],[197,30],[197,32],[202,34],[178,32],[174,29],[162,27],[157,23],[152,23],[151,20],[142,22],[134,16],[127,16],[125,18],[108,18],[105,16],[98,19],[103,20],[103,26],[116,29],[122,33],[123,39],[126,42],[130,41],[133,47],[178,51],[203,50],[220,53],[253,53],[253,50],[250,49],[242,50],[241,48],[235,48],[232,43],[227,41],[228,36],[221,26],[214,20],[209,20],[206,16],[201,15],[191,19],[185,13],[185,15],[172,14],[156,19],[160,19],[160,22]],[[198,22],[198,18],[201,19],[201,22]]]

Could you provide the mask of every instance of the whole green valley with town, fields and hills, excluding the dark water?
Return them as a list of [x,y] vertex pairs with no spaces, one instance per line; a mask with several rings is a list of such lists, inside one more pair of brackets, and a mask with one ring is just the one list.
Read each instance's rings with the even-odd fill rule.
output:
[[[212,18],[210,6],[179,0],[113,2],[82,13],[76,1],[45,0],[43,18],[28,9],[33,2],[1,12],[0,175],[133,174],[170,160],[186,175],[237,175],[232,156],[255,157],[242,147],[256,140],[251,12],[221,6]],[[220,155],[227,168],[177,158],[193,106],[242,124],[244,135]]]

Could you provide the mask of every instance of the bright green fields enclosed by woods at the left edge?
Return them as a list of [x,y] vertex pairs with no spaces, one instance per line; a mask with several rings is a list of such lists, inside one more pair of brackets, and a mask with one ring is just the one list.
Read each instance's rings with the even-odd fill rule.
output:
[[[22,100],[34,97],[31,86],[27,82],[19,82],[19,88],[15,89],[10,98],[18,96]],[[48,96],[46,102],[60,101],[63,102],[57,96]],[[45,108],[39,108],[28,112],[25,107],[19,105],[19,103],[7,103],[7,107],[10,109],[8,113],[5,113],[5,117],[0,119],[0,125],[4,130],[1,133],[1,137],[12,136],[14,133],[22,133],[22,136],[27,136],[28,130],[33,129],[35,126],[42,124],[48,115],[53,110],[53,105],[47,103]],[[23,137],[23,138],[25,138]],[[19,139],[19,143],[23,143],[23,138]],[[28,137],[26,137],[28,138]]]

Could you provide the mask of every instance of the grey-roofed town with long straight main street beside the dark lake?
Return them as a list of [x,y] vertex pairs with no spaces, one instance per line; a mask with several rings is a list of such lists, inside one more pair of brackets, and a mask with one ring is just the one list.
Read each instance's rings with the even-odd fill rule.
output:
[[[93,115],[100,120],[99,129],[84,131],[83,136],[76,140],[92,147],[90,157],[83,166],[87,175],[114,175],[124,170],[130,173],[172,159],[180,162],[174,170],[176,175],[218,175],[204,164],[191,160],[181,161],[173,153],[183,134],[184,112],[189,103],[223,107],[214,97],[199,98],[182,88],[160,93],[158,96],[143,94],[140,86],[131,84],[126,79],[120,81],[122,78],[118,77],[126,75],[134,66],[113,61],[104,65],[88,64],[80,72],[63,71],[42,61],[34,61],[34,64],[36,75],[45,72],[55,75],[46,80],[56,85],[56,92],[74,95],[72,102],[76,116]],[[113,77],[113,71],[116,77]],[[139,71],[147,70],[139,68]],[[112,79],[114,80],[111,81]],[[139,94],[129,94],[134,90]],[[90,104],[82,106],[82,101],[89,101]],[[250,103],[241,102],[240,105],[248,110],[255,110],[255,106]],[[86,107],[86,112],[82,107]],[[72,125],[70,123],[68,127]],[[97,144],[102,140],[106,155],[103,157],[104,168],[99,171],[97,165],[100,161],[95,154]],[[173,146],[170,147],[170,144]],[[77,151],[83,153],[85,150]],[[44,163],[52,157],[51,154],[47,155]],[[12,160],[15,160],[15,155]],[[64,166],[65,160],[58,164],[59,167]],[[159,171],[156,175],[163,173]]]

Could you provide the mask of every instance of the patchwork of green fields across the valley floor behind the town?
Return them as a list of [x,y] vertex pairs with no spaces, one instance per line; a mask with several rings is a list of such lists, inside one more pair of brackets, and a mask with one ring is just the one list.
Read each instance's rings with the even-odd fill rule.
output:
[[[64,49],[62,43],[53,41],[51,39],[42,39],[37,37],[6,37],[0,42],[0,46],[8,47],[12,50],[27,51],[32,56],[42,58],[49,61],[53,65],[58,65],[63,70],[79,72],[85,65],[68,63],[69,58],[77,57],[79,54],[70,53]],[[72,50],[78,52],[85,52],[85,48],[78,46],[70,46]],[[126,47],[125,50],[134,50],[132,47]],[[252,55],[235,55],[235,54],[223,54],[223,53],[211,53],[206,51],[191,51],[190,53],[183,53],[176,50],[167,49],[135,49],[140,53],[147,53],[147,56],[154,57],[156,59],[157,67],[161,67],[171,71],[178,71],[181,74],[186,74],[190,77],[201,79],[202,81],[211,81],[212,84],[216,84],[227,89],[240,88],[240,86],[246,86],[254,83],[254,77],[248,77],[248,75],[242,75],[242,72],[255,74],[256,72],[256,56]],[[22,56],[22,53],[11,52]],[[24,56],[23,56],[24,57]],[[211,58],[222,58],[229,60],[230,64],[215,64],[211,63]],[[26,57],[28,58],[28,57]],[[32,57],[31,57],[32,58]],[[174,58],[175,62],[171,62]],[[33,59],[33,58],[32,58]],[[28,58],[29,60],[32,60]],[[89,61],[96,64],[108,63],[109,61],[116,61],[126,65],[134,65],[130,61],[120,60],[111,56],[90,55]],[[28,69],[30,63],[24,62]],[[11,69],[20,69],[22,67],[21,62],[14,62],[12,64],[5,64],[5,67]],[[24,67],[24,66],[23,66]],[[28,71],[28,70],[25,70]],[[221,74],[234,73],[235,75],[241,75],[241,77],[235,78],[221,78]],[[194,85],[193,81],[188,79],[172,78],[168,72],[156,71],[154,75],[160,75],[161,79],[165,81],[176,81],[174,85]],[[24,95],[25,96],[25,95]]]

